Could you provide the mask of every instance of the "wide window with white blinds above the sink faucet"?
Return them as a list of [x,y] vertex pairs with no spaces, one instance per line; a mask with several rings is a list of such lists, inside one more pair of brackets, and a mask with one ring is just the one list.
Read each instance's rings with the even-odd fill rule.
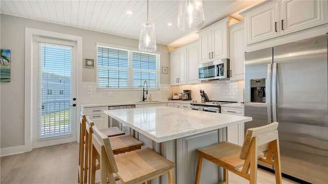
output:
[[98,89],[159,89],[159,54],[97,45]]

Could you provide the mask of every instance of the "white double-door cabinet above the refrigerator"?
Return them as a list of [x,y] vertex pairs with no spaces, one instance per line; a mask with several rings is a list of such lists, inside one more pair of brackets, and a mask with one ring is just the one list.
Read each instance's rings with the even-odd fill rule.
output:
[[252,44],[327,23],[327,1],[265,1],[240,14]]

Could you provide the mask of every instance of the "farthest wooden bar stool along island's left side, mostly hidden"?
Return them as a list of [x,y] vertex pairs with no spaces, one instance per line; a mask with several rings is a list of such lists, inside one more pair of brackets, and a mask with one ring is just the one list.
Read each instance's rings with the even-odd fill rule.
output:
[[[87,182],[87,170],[88,170],[88,163],[86,161],[88,160],[88,145],[89,143],[89,136],[87,135],[88,131],[86,129],[86,122],[87,118],[83,112],[80,112],[80,136],[79,136],[79,154],[78,154],[78,178],[77,181],[80,183],[86,183]],[[118,136],[118,135],[124,135],[125,132],[121,131],[117,127],[111,127],[106,129],[101,129],[101,132],[103,132],[108,137],[112,136]]]

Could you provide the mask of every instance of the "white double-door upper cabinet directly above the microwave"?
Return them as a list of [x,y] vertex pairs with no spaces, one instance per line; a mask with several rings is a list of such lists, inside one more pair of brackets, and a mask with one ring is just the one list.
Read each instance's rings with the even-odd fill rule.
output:
[[228,27],[230,22],[236,21],[231,17],[227,17],[198,32],[200,47],[199,63],[229,58]]

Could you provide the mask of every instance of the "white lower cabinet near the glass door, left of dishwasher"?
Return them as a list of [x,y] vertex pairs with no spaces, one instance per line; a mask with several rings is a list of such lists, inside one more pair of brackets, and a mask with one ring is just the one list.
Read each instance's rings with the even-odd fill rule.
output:
[[99,129],[108,128],[108,115],[104,113],[108,106],[101,107],[82,107],[82,111]]

